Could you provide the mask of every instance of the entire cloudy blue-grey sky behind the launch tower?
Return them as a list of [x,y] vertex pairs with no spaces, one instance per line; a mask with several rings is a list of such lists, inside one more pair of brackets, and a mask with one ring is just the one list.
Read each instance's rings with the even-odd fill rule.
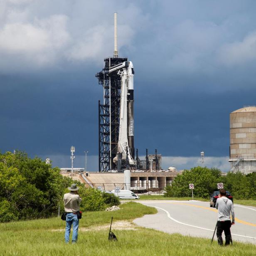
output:
[[0,150],[97,170],[95,74],[113,55],[135,70],[135,148],[163,167],[229,170],[229,113],[256,105],[256,1],[0,1]]

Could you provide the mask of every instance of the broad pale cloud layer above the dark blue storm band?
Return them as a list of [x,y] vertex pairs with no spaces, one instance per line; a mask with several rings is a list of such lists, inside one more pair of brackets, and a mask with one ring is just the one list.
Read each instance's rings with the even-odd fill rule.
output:
[[175,1],[143,5],[140,1],[45,0],[42,5],[36,0],[4,0],[0,1],[0,71],[60,67],[69,61],[102,63],[103,57],[113,54],[114,11],[118,12],[120,55],[137,57],[146,72],[145,62],[165,63],[155,67],[156,76],[215,76],[220,64],[256,58],[255,33],[235,41],[242,34],[239,24],[245,22],[244,30],[250,32],[247,20],[252,18],[225,8],[212,10],[208,17],[197,4]]

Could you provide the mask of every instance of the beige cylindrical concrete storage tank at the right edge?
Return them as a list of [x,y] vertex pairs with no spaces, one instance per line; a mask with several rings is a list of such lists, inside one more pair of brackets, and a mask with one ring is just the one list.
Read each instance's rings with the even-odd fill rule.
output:
[[230,113],[231,171],[256,172],[256,106]]

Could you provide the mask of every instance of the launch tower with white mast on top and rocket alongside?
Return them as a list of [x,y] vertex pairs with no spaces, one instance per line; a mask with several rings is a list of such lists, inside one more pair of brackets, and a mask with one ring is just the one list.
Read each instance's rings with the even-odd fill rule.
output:
[[133,135],[133,64],[118,57],[117,19],[114,14],[114,54],[104,59],[96,74],[103,86],[98,101],[98,171],[107,172],[135,165]]

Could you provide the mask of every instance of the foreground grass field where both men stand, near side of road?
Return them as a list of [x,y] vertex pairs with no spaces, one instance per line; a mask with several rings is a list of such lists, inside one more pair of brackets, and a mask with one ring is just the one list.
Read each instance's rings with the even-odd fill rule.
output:
[[[121,205],[116,212],[87,212],[79,223],[77,244],[64,243],[65,222],[58,218],[0,224],[1,256],[249,256],[255,255],[256,246],[234,243],[230,247],[211,245],[209,239],[198,239],[179,234],[165,234],[152,229],[135,227],[136,230],[115,230],[117,242],[108,241],[108,229],[90,230],[92,226],[114,220],[131,220],[156,210],[135,202]],[[88,231],[82,231],[83,228]],[[59,229],[53,231],[53,229]]]

